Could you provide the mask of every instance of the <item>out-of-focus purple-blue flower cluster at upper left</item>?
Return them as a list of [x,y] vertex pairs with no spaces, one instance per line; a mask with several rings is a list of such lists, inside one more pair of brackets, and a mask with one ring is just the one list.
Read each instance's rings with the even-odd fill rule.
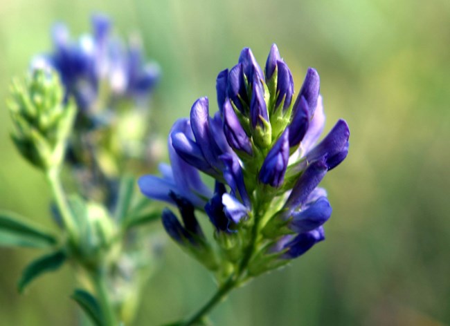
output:
[[33,68],[51,66],[57,70],[66,98],[75,97],[80,111],[92,111],[99,105],[102,87],[108,88],[112,98],[142,100],[159,79],[159,66],[145,64],[140,44],[132,41],[125,46],[111,36],[111,27],[108,17],[93,15],[92,35],[73,41],[68,28],[57,23],[52,30],[53,52],[33,59]]

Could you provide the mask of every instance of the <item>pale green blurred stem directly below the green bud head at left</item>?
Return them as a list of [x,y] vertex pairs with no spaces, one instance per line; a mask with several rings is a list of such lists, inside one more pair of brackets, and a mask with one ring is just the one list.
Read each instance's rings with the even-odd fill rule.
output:
[[62,189],[59,169],[48,169],[46,171],[46,178],[55,198],[57,209],[61,213],[64,227],[67,233],[69,233],[69,237],[76,242],[78,240],[78,231],[69,204],[67,204],[64,190]]

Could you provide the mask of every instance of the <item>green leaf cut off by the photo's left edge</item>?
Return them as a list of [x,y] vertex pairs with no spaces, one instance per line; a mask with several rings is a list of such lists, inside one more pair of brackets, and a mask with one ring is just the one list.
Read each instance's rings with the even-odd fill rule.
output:
[[45,248],[57,239],[15,213],[0,212],[0,246]]

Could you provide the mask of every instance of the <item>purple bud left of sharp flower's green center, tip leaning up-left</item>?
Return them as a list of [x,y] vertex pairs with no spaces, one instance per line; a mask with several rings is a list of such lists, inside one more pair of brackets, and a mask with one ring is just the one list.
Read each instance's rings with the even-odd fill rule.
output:
[[224,133],[228,144],[237,151],[244,151],[252,155],[253,149],[249,136],[247,136],[244,128],[240,124],[237,115],[231,106],[228,99],[226,99],[223,106],[224,114]]

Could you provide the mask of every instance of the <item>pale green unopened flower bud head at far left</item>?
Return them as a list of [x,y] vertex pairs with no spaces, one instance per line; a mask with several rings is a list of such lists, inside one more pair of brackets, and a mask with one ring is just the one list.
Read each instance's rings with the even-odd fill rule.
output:
[[63,94],[52,70],[34,70],[24,82],[12,84],[12,140],[26,160],[44,171],[62,164],[72,130],[75,107],[63,104]]

